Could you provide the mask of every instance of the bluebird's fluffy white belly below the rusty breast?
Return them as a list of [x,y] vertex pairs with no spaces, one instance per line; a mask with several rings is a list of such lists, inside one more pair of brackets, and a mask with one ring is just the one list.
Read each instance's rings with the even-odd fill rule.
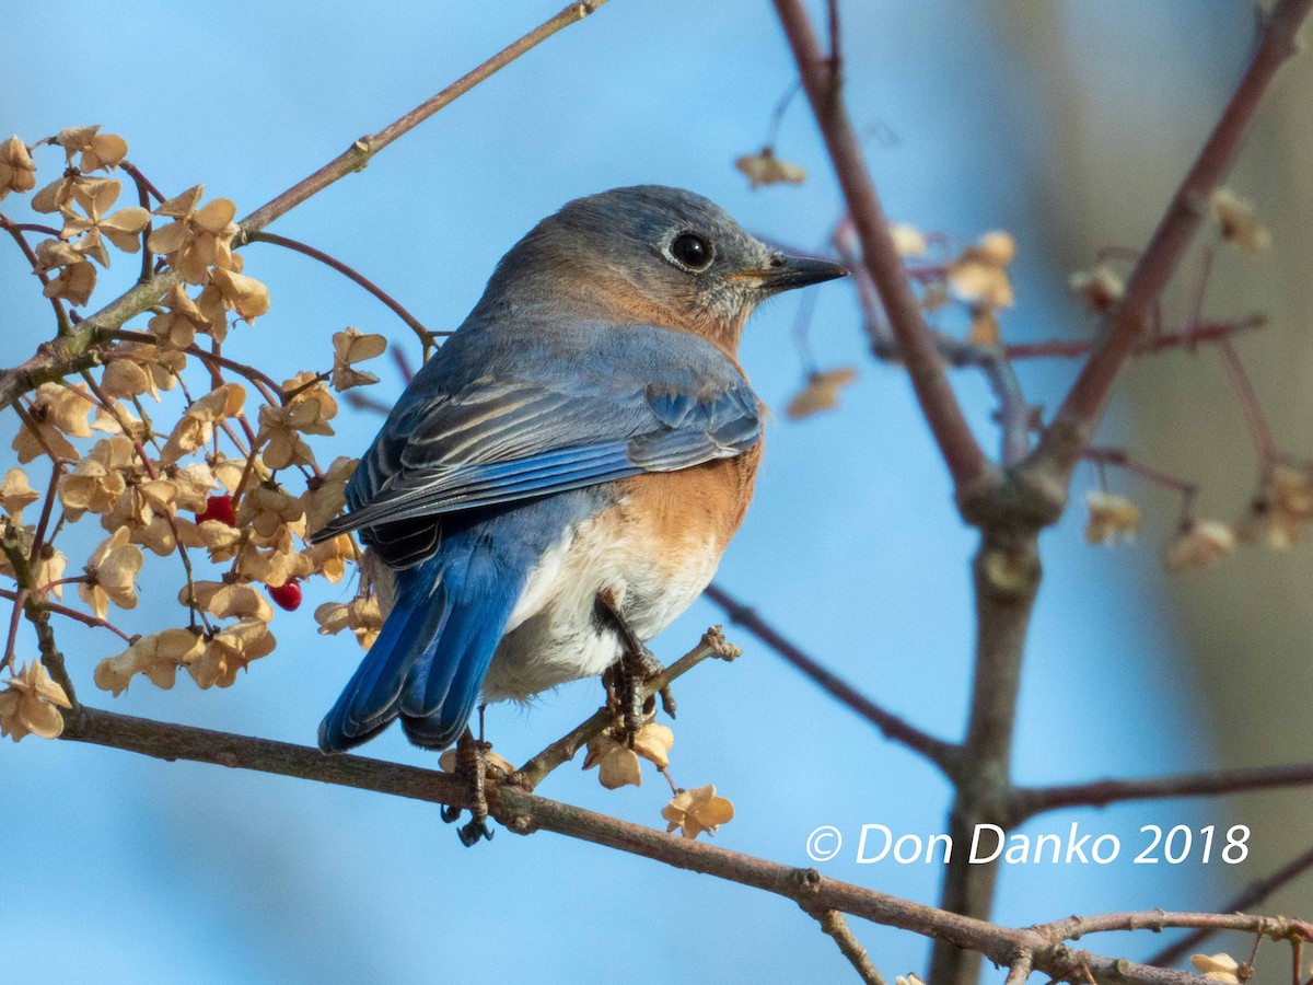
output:
[[702,592],[723,544],[655,546],[641,524],[601,515],[575,527],[529,573],[483,684],[484,700],[524,700],[601,674],[620,658],[614,629],[600,624],[597,594],[611,591],[639,640],[668,626]]

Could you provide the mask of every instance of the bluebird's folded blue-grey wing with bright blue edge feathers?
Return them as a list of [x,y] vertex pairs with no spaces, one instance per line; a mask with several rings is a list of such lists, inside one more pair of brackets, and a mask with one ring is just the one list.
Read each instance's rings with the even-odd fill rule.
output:
[[649,360],[647,380],[635,380],[632,360],[613,374],[536,366],[412,398],[361,462],[351,512],[315,540],[739,454],[760,439],[758,401],[723,356],[705,349],[691,352],[706,366],[689,365],[683,349],[681,361]]

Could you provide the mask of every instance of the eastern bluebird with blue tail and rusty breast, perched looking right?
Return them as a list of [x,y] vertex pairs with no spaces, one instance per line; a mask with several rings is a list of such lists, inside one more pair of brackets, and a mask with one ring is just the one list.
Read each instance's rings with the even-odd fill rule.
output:
[[846,273],[785,256],[658,185],[579,198],[498,264],[347,487],[386,621],[319,729],[341,753],[394,718],[442,749],[481,700],[525,700],[622,653],[706,587],[752,496],[762,403],[743,323]]

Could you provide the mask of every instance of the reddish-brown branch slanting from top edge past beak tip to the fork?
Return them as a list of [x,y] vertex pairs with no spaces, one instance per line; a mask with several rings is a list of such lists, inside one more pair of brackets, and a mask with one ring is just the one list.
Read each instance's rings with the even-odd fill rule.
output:
[[775,9],[861,242],[863,263],[880,290],[916,399],[961,494],[987,479],[991,466],[957,403],[934,335],[889,235],[889,221],[867,171],[861,141],[843,105],[838,64],[821,49],[801,0],[775,0]]

